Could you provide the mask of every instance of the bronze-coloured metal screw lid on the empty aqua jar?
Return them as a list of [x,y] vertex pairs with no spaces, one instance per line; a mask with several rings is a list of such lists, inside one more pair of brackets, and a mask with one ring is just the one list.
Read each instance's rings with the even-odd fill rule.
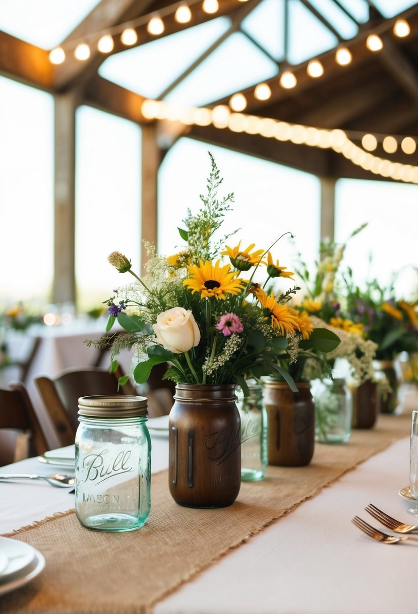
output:
[[92,418],[136,418],[148,414],[146,402],[146,397],[123,394],[80,397],[78,414]]

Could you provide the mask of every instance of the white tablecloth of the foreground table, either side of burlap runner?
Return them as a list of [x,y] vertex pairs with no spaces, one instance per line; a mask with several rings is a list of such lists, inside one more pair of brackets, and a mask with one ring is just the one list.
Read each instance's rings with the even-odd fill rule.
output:
[[[153,472],[163,467],[167,441],[154,439]],[[36,459],[2,471],[17,470],[48,474]],[[398,495],[408,472],[404,438],[181,586],[155,614],[416,614],[418,543],[384,545],[351,523],[359,515],[379,526],[368,503],[413,523]],[[0,533],[67,510],[71,496],[40,482],[0,483]]]

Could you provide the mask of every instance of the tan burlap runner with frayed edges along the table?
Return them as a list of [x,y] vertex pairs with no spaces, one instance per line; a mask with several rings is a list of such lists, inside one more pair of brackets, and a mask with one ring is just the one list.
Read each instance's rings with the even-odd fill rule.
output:
[[46,567],[31,583],[0,597],[0,613],[138,614],[177,589],[303,500],[400,437],[410,415],[379,416],[373,430],[355,430],[348,445],[316,445],[308,467],[268,467],[267,478],[243,483],[234,505],[193,510],[173,502],[167,471],[153,475],[151,514],[127,533],[83,528],[69,511],[23,527],[13,538],[42,552]]

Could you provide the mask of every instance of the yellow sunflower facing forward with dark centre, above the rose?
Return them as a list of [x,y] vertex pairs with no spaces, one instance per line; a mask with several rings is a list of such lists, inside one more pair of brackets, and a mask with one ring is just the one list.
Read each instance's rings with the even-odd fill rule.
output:
[[203,264],[199,260],[199,266],[188,266],[190,277],[184,279],[183,284],[187,286],[192,294],[200,292],[200,298],[215,297],[226,299],[227,294],[238,294],[245,288],[243,279],[235,279],[238,272],[230,271],[230,266],[221,265],[217,260],[215,266],[207,260]]

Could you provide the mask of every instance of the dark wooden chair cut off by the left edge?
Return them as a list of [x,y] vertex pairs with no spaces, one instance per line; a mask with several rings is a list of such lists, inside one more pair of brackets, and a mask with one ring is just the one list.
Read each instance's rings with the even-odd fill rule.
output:
[[48,449],[42,426],[20,382],[0,388],[0,465],[39,456]]

